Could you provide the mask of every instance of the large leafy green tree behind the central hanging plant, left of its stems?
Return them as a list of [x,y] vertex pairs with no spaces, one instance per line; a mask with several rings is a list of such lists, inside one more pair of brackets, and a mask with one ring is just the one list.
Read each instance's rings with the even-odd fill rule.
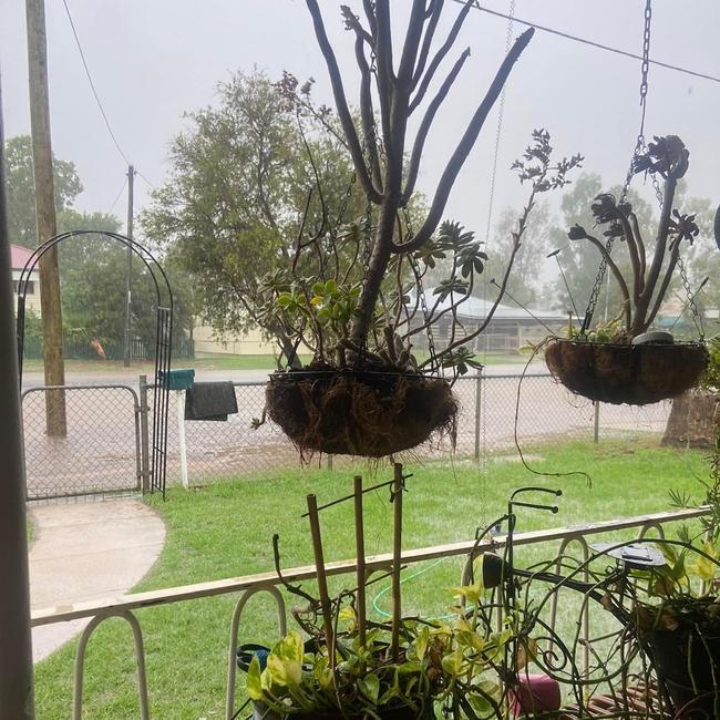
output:
[[[169,179],[141,216],[145,234],[192,275],[202,316],[218,335],[254,326],[260,280],[290,266],[302,224],[349,223],[366,212],[328,113],[320,110],[320,122],[288,100],[288,91],[307,100],[310,88],[289,74],[279,88],[257,70],[220,83],[219,106],[188,115],[192,128],[172,145]],[[317,261],[332,258],[304,258]],[[287,338],[279,328],[274,335],[289,357]]]

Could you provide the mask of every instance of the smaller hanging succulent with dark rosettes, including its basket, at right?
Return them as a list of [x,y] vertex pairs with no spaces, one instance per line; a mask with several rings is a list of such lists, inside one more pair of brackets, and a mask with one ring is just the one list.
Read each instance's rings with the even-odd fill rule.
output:
[[[673,398],[691,388],[708,362],[702,342],[676,342],[667,332],[649,332],[660,309],[683,244],[698,235],[693,215],[673,209],[678,181],[688,169],[689,153],[677,135],[656,137],[637,157],[634,172],[647,172],[664,179],[662,208],[652,255],[646,249],[632,207],[613,195],[598,195],[592,206],[597,224],[607,229],[603,244],[575,225],[568,237],[587,241],[601,256],[620,290],[618,318],[590,329],[592,304],[582,328],[570,327],[568,338],[555,338],[545,349],[547,367],[573,392],[590,400],[644,405]],[[613,241],[627,245],[629,272],[610,256]],[[691,296],[690,296],[691,300]]]

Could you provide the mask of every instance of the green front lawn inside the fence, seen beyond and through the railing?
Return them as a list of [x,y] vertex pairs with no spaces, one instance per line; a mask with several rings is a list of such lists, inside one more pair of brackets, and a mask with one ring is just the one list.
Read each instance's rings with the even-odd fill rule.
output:
[[[534,449],[535,464],[543,472],[584,470],[582,476],[538,477],[520,463],[488,462],[485,475],[472,463],[407,464],[413,472],[404,496],[403,546],[421,547],[470,539],[475,527],[503,513],[510,492],[522,485],[562,487],[560,513],[527,511],[518,531],[573,525],[667,510],[668,490],[697,494],[698,474],[704,473],[701,453],[660,449],[650,441],[628,443],[568,443]],[[360,472],[372,482],[368,469]],[[188,583],[246,575],[272,566],[271,536],[280,534],[286,567],[311,562],[307,523],[299,515],[305,495],[313,492],[321,503],[346,494],[352,470],[286,472],[274,482],[243,480],[184,492],[174,488],[163,503],[148,503],[167,527],[165,548],[145,579],[135,588],[148,590]],[[378,479],[388,479],[387,469]],[[350,528],[351,504],[323,513],[326,559],[353,556]],[[387,491],[367,498],[367,551],[390,548],[392,511]],[[534,551],[536,554],[542,549]],[[552,557],[546,549],[545,557]],[[529,556],[526,556],[529,559]],[[456,585],[461,560],[448,559],[423,566],[422,575],[404,585],[404,609],[425,617],[444,611],[450,596],[442,588]],[[413,567],[414,570],[418,569]],[[347,582],[347,580],[346,580]],[[339,586],[341,579],[336,579]],[[382,587],[377,586],[377,592]],[[308,589],[311,589],[308,586]],[[264,596],[247,607],[240,641],[271,642],[276,636],[274,610]],[[152,717],[160,720],[198,720],[223,717],[227,636],[237,597],[215,597],[140,610],[150,679]],[[292,607],[294,603],[289,603]],[[377,598],[388,609],[387,595]],[[64,719],[71,707],[72,664],[75,641],[37,667],[38,717]],[[239,678],[243,681],[241,677]],[[89,645],[85,673],[85,717],[124,719],[137,717],[134,661],[128,629],[109,620]]]

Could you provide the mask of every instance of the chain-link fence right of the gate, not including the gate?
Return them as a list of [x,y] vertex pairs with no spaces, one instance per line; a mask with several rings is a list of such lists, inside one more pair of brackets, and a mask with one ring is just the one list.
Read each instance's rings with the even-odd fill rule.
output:
[[[486,453],[511,452],[515,429],[521,446],[568,440],[631,439],[661,433],[671,403],[644,408],[603,404],[599,408],[574,395],[549,374],[473,376],[457,380],[460,401],[455,452],[480,459]],[[185,439],[191,484],[234,477],[276,477],[284,469],[300,466],[300,456],[282,431],[271,422],[253,430],[254,418],[265,407],[265,383],[235,383],[238,413],[227,422],[187,421]],[[152,394],[151,394],[152,398]],[[152,400],[151,400],[152,401]],[[515,422],[517,409],[517,423]],[[177,393],[172,392],[168,416],[167,481],[181,477],[177,442]],[[415,459],[440,457],[450,452],[449,440],[411,451]],[[315,456],[310,461],[327,467],[349,467],[357,460]]]

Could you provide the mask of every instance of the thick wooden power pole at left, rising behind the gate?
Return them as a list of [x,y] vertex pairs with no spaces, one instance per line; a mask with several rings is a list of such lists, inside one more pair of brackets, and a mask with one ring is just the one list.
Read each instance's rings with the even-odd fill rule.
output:
[[[41,244],[58,234],[50,141],[44,0],[25,0],[25,13],[38,244]],[[48,250],[40,260],[40,308],[42,311],[45,384],[64,385],[65,366],[62,357],[62,310],[56,247]],[[68,423],[63,391],[47,391],[45,415],[48,434],[64,438],[68,433]]]

